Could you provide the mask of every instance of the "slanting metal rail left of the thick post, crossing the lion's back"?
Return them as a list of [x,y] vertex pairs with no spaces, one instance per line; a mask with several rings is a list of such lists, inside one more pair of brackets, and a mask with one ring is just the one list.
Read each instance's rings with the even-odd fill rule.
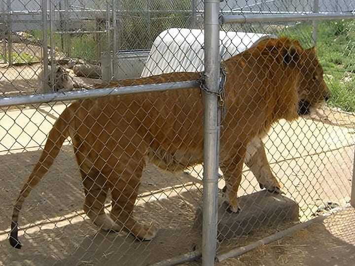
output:
[[98,97],[113,96],[113,95],[172,91],[172,90],[190,89],[196,87],[199,87],[197,80],[193,80],[193,81],[181,81],[181,82],[172,82],[172,83],[146,84],[146,85],[138,85],[138,86],[82,90],[82,91],[65,92],[65,93],[25,95],[25,96],[16,96],[10,98],[0,98],[0,107],[21,105],[21,104],[46,103],[52,101],[90,99],[90,98],[98,98]]

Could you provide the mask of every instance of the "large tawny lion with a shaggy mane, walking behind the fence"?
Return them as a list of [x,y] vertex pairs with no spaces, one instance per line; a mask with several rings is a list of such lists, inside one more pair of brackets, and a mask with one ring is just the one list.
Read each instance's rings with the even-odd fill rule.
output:
[[[300,102],[309,103],[305,107],[308,110],[328,98],[329,91],[313,49],[303,50],[296,40],[288,38],[262,40],[225,61],[223,67],[227,72],[226,113],[221,128],[220,167],[226,180],[226,200],[236,212],[245,159],[261,184],[278,186],[263,145],[258,142],[260,137],[279,119],[296,119]],[[199,76],[200,73],[170,73],[107,86],[196,80]],[[11,245],[21,247],[17,222],[24,199],[52,165],[68,136],[83,179],[84,210],[90,219],[105,230],[125,227],[137,238],[153,238],[156,229],[140,224],[132,216],[142,170],[146,160],[170,171],[202,163],[203,104],[198,87],[72,103],[54,124],[16,201]],[[252,139],[256,152],[247,152]],[[109,216],[104,211],[108,191],[112,195]]]

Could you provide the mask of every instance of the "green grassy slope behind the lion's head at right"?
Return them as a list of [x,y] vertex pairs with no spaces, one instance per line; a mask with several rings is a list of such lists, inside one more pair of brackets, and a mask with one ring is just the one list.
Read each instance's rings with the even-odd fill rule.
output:
[[[312,24],[301,23],[277,33],[297,38],[311,47]],[[332,92],[328,105],[355,111],[355,20],[321,22],[318,28],[318,57],[325,82]]]

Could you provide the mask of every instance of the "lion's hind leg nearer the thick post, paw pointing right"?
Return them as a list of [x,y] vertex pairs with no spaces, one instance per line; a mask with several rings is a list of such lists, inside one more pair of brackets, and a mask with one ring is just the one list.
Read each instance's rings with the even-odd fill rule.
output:
[[[117,224],[123,225],[137,238],[150,240],[155,236],[156,229],[152,225],[138,223],[132,216],[144,163],[137,164],[135,160],[128,160],[127,164],[122,165],[124,169],[116,172],[118,179],[115,180],[115,184],[113,184],[111,189],[111,218]],[[118,171],[118,169],[116,170]]]

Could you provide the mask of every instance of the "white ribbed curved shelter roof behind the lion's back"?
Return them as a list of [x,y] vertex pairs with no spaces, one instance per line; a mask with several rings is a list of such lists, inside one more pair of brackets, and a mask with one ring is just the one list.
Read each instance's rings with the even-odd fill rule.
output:
[[[248,49],[262,33],[219,32],[222,60]],[[171,72],[203,71],[204,31],[173,28],[160,33],[154,40],[142,77]]]

